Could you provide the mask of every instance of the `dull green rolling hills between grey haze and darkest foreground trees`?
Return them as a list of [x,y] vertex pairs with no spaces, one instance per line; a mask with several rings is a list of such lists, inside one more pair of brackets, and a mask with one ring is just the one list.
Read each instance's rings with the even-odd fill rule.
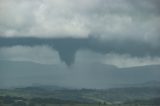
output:
[[160,82],[157,82],[159,83],[159,86],[157,86],[154,82],[141,84],[141,86],[132,85],[130,87],[123,86],[120,88],[109,89],[73,89],[58,86],[39,85],[14,89],[1,89],[0,95],[10,95],[24,98],[56,98],[59,100],[77,101],[80,103],[124,103],[135,100],[158,99],[160,97]]

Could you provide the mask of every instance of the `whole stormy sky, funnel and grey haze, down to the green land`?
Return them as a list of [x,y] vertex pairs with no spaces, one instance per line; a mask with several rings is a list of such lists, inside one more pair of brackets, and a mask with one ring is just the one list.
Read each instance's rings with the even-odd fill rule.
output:
[[159,70],[160,0],[0,0],[0,88],[108,88]]

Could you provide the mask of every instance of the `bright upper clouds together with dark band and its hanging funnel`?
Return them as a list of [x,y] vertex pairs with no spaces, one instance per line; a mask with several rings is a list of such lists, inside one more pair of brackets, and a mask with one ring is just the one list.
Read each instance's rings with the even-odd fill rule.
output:
[[160,56],[159,0],[0,0],[0,46]]

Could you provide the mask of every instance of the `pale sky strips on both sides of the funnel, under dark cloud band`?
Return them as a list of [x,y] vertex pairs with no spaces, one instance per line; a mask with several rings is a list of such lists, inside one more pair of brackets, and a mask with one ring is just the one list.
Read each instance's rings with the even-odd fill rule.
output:
[[[0,48],[0,61],[33,62],[38,64],[61,65],[57,51],[48,46],[13,46]],[[106,64],[119,68],[145,65],[159,65],[160,57],[133,57],[129,54],[99,54],[88,50],[77,51],[75,63],[77,64]]]

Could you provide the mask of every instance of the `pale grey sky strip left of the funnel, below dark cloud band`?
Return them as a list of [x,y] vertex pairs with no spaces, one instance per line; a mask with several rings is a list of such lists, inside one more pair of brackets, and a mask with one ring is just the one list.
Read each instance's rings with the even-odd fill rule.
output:
[[0,48],[0,60],[60,64],[57,51],[47,46],[13,46]]

